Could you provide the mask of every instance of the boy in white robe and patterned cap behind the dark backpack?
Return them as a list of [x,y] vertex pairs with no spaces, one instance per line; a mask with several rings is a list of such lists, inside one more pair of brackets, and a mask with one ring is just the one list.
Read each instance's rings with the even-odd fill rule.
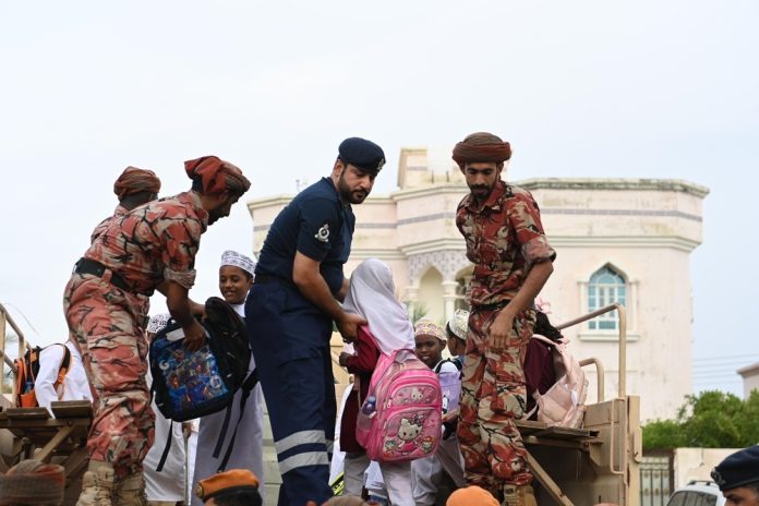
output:
[[[221,255],[221,266],[219,267],[219,291],[221,297],[234,310],[244,316],[245,298],[253,286],[253,270],[255,262],[245,255],[234,251],[226,251]],[[255,369],[253,354],[251,354],[250,370]],[[226,451],[229,441],[234,432],[234,423],[239,418],[240,396],[242,390],[238,390],[232,399],[232,412],[230,423],[225,436],[224,446]],[[201,426],[197,434],[197,454],[195,457],[195,475],[193,478],[193,489],[197,483],[215,474],[221,462],[224,455],[214,458],[214,448],[219,437],[224,424],[226,410],[201,418]],[[234,446],[227,463],[227,469],[246,469],[252,471],[260,480],[264,477],[264,412],[263,394],[261,385],[256,385],[251,391],[245,402],[245,411]],[[192,498],[193,506],[201,506],[203,502],[198,497]]]

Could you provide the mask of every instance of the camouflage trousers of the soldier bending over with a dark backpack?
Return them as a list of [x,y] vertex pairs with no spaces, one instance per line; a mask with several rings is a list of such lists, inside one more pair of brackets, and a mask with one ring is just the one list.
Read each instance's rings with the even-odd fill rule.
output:
[[95,397],[89,458],[113,465],[121,479],[142,471],[153,444],[145,335],[149,300],[113,287],[108,274],[73,274],[63,311]]

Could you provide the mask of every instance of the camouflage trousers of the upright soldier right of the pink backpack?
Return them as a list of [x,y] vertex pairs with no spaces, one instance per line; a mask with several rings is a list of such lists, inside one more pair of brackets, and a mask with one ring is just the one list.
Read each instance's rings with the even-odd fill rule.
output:
[[457,436],[471,485],[499,492],[505,484],[532,481],[527,451],[514,420],[526,407],[522,360],[534,328],[534,311],[514,320],[505,350],[492,350],[485,337],[498,311],[474,308],[469,316],[467,351],[461,371]]

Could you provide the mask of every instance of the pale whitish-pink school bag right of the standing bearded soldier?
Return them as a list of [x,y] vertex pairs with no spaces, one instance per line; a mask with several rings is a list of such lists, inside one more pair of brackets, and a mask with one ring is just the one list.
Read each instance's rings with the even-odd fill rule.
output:
[[580,363],[569,353],[566,339],[556,342],[540,334],[533,334],[532,338],[551,347],[556,371],[556,383],[545,394],[541,395],[538,389],[532,394],[537,403],[538,421],[549,425],[581,427],[588,397],[588,380]]

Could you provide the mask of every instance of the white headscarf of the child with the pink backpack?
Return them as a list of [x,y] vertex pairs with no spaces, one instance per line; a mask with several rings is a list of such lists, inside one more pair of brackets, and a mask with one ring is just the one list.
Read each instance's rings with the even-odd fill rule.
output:
[[413,326],[406,308],[395,298],[393,272],[383,261],[369,258],[356,267],[344,309],[366,318],[383,353],[414,349]]

